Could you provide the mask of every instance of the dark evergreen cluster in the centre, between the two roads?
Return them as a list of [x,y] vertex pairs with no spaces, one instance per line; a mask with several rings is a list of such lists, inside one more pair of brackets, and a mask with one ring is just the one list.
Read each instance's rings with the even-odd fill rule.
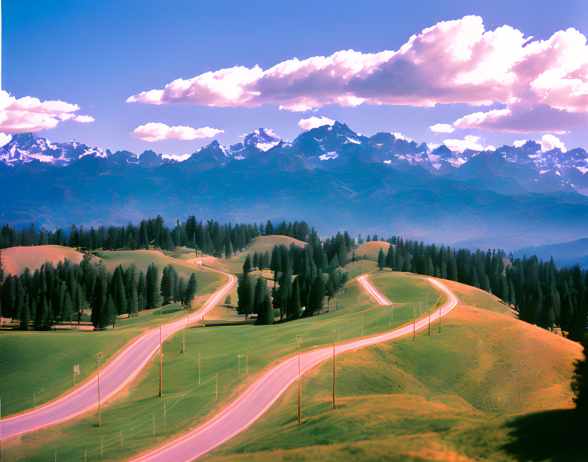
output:
[[[308,245],[304,247],[297,246],[295,243],[290,244],[289,247],[282,244],[273,247],[271,257],[268,252],[253,254],[253,267],[259,269],[269,267],[273,274],[272,306],[273,310],[279,312],[280,320],[298,318],[301,306],[305,307],[306,316],[319,312],[325,295],[329,298],[334,296],[348,280],[348,274],[343,273],[340,266],[346,265],[347,253],[352,246],[353,240],[347,232],[338,233],[322,245],[313,228]],[[340,262],[343,264],[341,265]],[[255,296],[259,290],[265,300],[262,285],[267,286],[267,284],[260,277],[254,291],[252,278],[249,275],[251,269],[252,264],[248,255],[243,264],[243,274],[239,277],[238,312],[240,314],[257,313],[258,322],[265,324],[269,316],[266,316],[265,311],[256,311],[264,310],[265,306],[256,304]],[[292,280],[293,276],[295,277]],[[265,290],[268,290],[267,287]]]

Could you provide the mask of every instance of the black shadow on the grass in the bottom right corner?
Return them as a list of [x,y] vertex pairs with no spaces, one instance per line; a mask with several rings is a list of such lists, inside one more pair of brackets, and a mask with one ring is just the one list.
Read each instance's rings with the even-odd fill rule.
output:
[[544,411],[516,417],[508,424],[511,443],[503,450],[520,461],[588,460],[588,413]]

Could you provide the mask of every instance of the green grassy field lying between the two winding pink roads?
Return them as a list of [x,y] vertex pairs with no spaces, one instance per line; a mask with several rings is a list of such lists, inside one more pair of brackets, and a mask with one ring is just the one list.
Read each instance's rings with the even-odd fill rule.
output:
[[[406,286],[415,286],[413,276]],[[408,293],[410,299],[415,294]],[[399,300],[401,302],[402,300]],[[163,394],[157,397],[159,368],[153,361],[129,387],[126,396],[106,405],[102,410],[102,427],[95,428],[96,417],[86,414],[79,419],[52,428],[25,434],[22,443],[3,450],[7,460],[34,460],[59,448],[62,460],[71,460],[88,449],[88,460],[100,457],[104,436],[105,459],[128,458],[131,454],[162,444],[172,436],[185,433],[206,417],[216,413],[266,370],[273,361],[296,353],[296,336],[302,336],[303,349],[329,344],[362,335],[375,334],[412,321],[412,309],[395,309],[390,327],[390,307],[374,307],[372,300],[355,281],[339,296],[339,309],[310,319],[300,319],[273,326],[195,327],[186,329],[186,354],[182,349],[182,333],[175,334],[163,346]],[[363,311],[363,316],[362,316]],[[202,384],[198,386],[198,355],[201,353]],[[248,353],[240,359],[238,355]],[[247,363],[247,365],[245,364]],[[249,375],[244,373],[248,367]],[[218,373],[218,401],[215,402],[215,379]],[[166,403],[166,428],[163,429],[163,403]],[[156,436],[153,438],[153,414]],[[123,448],[120,450],[120,431]],[[75,437],[74,437],[75,436]]]

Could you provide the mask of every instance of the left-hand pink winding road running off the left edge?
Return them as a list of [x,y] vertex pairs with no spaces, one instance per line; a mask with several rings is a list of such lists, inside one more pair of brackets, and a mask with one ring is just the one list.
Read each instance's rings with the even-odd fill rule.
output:
[[[184,316],[171,323],[163,324],[162,340],[168,339],[168,337],[186,327],[186,324],[198,322],[216,304],[223,302],[226,295],[235,287],[237,278],[233,274],[222,274],[229,277],[228,282],[217,289],[206,300],[201,309],[190,314],[189,319],[188,316]],[[109,397],[130,383],[158,350],[159,328],[156,328],[138,337],[112,360],[109,360],[105,367],[101,367],[100,402],[104,403]],[[18,416],[2,419],[0,421],[0,437],[4,440],[38,428],[48,427],[97,408],[98,378],[94,376],[75,390],[44,406]]]

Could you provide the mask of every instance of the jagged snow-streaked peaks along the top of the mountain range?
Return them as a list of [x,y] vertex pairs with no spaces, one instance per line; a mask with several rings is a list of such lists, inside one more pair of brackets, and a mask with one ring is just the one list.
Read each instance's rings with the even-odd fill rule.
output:
[[[413,140],[399,138],[392,133],[376,133],[370,138],[353,132],[347,125],[335,122],[333,125],[323,125],[300,133],[292,142],[285,142],[270,129],[259,128],[244,136],[243,142],[235,143],[229,147],[221,146],[213,140],[208,146],[204,146],[192,153],[189,160],[197,162],[203,167],[210,167],[217,162],[227,165],[229,162],[243,160],[250,156],[277,149],[279,152],[290,153],[293,156],[302,156],[309,159],[310,164],[316,166],[319,161],[332,161],[337,159],[342,152],[349,150],[349,145],[359,145],[362,155],[372,162],[383,162],[392,165],[408,163],[420,165],[435,175],[453,174],[459,176],[456,170],[466,163],[470,167],[477,162],[470,162],[480,151],[466,149],[463,152],[452,152],[447,146],[441,145],[430,149],[426,143],[417,144]],[[540,190],[543,183],[549,183],[549,190],[576,189],[578,192],[588,195],[588,153],[582,148],[576,148],[562,152],[554,148],[543,152],[539,143],[527,141],[523,146],[502,146],[495,151],[486,151],[497,162],[500,158],[506,162],[526,166],[527,173],[535,170],[535,174],[529,173],[529,180],[542,181],[540,185],[529,185],[530,190]],[[45,138],[35,138],[32,133],[15,135],[11,142],[0,148],[0,160],[6,165],[14,166],[17,163],[28,163],[33,160],[51,163],[55,166],[66,166],[83,156],[96,156],[106,158],[112,163],[139,164],[155,167],[167,162],[178,162],[156,154],[152,150],[146,150],[141,155],[135,155],[128,151],[110,150],[102,151],[99,148],[89,148],[83,143],[72,140],[66,143],[50,143]],[[485,156],[486,158],[488,156]],[[339,160],[340,162],[340,160]],[[308,162],[307,162],[308,164]],[[308,165],[305,165],[308,167]],[[480,172],[480,178],[487,172]],[[531,177],[533,177],[531,179]]]

